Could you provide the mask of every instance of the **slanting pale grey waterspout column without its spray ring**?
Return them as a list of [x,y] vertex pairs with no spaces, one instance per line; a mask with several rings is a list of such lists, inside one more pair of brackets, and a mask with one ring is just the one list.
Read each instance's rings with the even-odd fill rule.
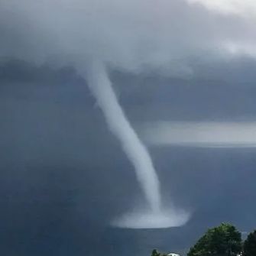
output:
[[92,62],[87,70],[87,81],[110,130],[121,142],[125,154],[136,170],[136,176],[151,210],[159,211],[160,185],[151,157],[118,104],[111,81],[102,63]]

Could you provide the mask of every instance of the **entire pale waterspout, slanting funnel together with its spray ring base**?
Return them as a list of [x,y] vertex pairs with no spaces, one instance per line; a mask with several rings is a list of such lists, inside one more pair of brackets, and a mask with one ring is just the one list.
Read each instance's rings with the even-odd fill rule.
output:
[[[158,225],[156,222],[157,226],[155,228],[184,224],[187,217],[183,216],[180,221],[176,219],[170,220],[171,215],[167,217],[161,212],[160,183],[151,157],[119,105],[105,66],[101,62],[93,61],[87,70],[86,80],[89,89],[102,109],[110,130],[121,142],[125,154],[133,164],[138,182],[141,184],[144,196],[150,206],[149,214],[148,212],[132,212],[113,222],[113,225],[127,228],[140,228],[143,225],[146,228],[149,225],[152,226],[150,223],[156,222],[157,219],[161,219],[161,221]],[[143,219],[145,221],[141,222]],[[135,223],[137,222],[141,224],[136,225]]]

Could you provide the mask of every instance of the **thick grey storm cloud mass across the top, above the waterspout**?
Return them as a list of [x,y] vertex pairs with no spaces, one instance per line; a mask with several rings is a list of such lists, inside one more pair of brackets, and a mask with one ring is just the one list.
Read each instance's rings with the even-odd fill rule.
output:
[[190,74],[188,60],[254,56],[254,18],[186,1],[41,1],[1,4],[1,55],[85,69],[98,58],[119,70]]

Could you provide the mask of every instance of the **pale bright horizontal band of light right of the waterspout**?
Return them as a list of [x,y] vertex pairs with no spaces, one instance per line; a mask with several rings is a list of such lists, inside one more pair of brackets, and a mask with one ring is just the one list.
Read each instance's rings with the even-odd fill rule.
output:
[[256,122],[158,122],[147,125],[150,144],[256,147]]

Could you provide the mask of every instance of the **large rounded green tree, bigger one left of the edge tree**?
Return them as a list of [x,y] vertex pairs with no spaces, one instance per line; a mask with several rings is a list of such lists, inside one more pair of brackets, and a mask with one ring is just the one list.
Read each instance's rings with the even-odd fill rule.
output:
[[[190,248],[188,256],[230,256],[241,252],[241,233],[233,225],[222,223],[210,228]],[[256,254],[254,254],[256,256]]]

